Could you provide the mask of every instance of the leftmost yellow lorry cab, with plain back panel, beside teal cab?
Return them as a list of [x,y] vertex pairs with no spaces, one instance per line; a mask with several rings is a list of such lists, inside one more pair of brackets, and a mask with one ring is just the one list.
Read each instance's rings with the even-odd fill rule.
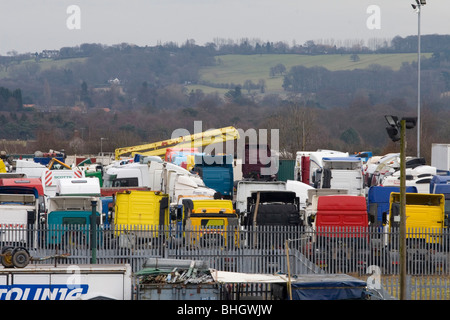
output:
[[[134,247],[143,233],[153,232],[157,239],[160,226],[169,226],[169,196],[157,191],[128,190],[115,196],[112,224],[122,248]],[[147,237],[148,238],[148,237]]]

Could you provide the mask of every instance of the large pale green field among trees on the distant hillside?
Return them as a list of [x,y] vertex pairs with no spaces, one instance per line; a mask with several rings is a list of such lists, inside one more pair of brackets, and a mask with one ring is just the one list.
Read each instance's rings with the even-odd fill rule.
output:
[[[431,54],[423,54],[425,57]],[[353,62],[350,54],[331,55],[298,55],[298,54],[265,54],[265,55],[223,55],[217,56],[217,65],[202,68],[200,79],[211,83],[244,84],[246,80],[258,83],[260,79],[266,82],[266,93],[282,92],[283,77],[270,77],[270,68],[281,63],[286,71],[293,66],[305,67],[321,66],[330,71],[364,69],[372,64],[387,66],[398,70],[403,62],[417,60],[416,53],[408,54],[359,54],[359,61]],[[190,89],[201,89],[205,93],[212,91],[226,92],[225,89],[216,89],[207,86],[190,86]]]

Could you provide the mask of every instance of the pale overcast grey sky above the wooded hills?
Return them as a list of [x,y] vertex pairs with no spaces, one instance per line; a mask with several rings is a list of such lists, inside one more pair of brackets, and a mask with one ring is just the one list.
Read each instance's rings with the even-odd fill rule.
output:
[[[416,0],[0,0],[0,55],[83,43],[306,41],[417,35]],[[427,0],[421,34],[450,34],[450,1]]]

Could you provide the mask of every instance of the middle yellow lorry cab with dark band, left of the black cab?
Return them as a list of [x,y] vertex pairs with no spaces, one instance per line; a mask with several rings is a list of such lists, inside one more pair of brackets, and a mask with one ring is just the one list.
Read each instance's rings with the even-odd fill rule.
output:
[[[236,243],[238,215],[231,200],[183,199],[185,239],[190,245],[227,245]],[[232,233],[227,231],[233,230]],[[231,240],[231,242],[230,242]]]

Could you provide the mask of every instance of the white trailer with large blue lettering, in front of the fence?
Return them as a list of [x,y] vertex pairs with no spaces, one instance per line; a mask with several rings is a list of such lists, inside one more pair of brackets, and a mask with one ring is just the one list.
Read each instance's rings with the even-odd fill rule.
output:
[[132,286],[129,264],[0,269],[0,300],[132,300]]

